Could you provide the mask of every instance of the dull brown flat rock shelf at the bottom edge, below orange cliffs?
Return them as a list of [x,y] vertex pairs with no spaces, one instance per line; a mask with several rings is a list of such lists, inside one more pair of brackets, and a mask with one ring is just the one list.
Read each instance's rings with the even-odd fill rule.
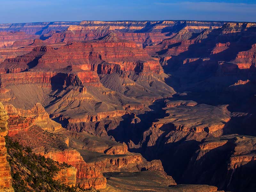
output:
[[103,192],[139,192],[139,191],[158,191],[158,192],[217,192],[217,188],[208,185],[176,185],[174,180],[163,177],[159,172],[109,172],[104,174],[107,177],[107,188]]

